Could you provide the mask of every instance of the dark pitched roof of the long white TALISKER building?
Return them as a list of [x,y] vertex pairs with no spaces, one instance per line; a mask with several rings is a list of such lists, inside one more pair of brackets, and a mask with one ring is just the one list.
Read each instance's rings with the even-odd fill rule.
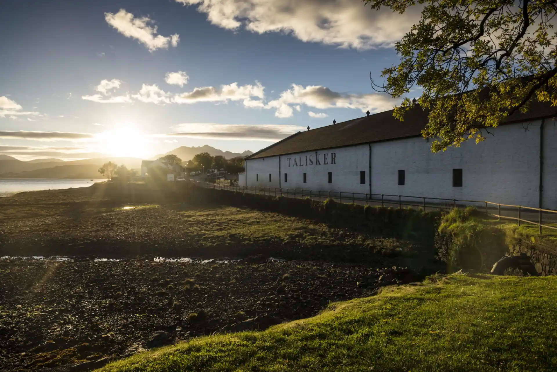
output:
[[[534,102],[528,112],[515,112],[502,124],[534,120],[555,116],[557,107]],[[404,115],[404,121],[393,116],[393,110],[364,116],[335,125],[323,126],[295,133],[265,149],[257,151],[246,159],[265,158],[266,156],[302,153],[321,149],[366,144],[378,141],[402,139],[421,135],[427,124],[427,112],[416,106]]]

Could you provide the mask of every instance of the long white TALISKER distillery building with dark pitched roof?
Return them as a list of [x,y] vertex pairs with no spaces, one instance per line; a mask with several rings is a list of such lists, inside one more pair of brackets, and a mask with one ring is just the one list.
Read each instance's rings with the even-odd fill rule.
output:
[[[246,159],[240,185],[393,194],[557,209],[555,107],[534,104],[479,144],[432,153],[427,114],[393,111],[298,132]],[[309,128],[309,127],[308,127]]]

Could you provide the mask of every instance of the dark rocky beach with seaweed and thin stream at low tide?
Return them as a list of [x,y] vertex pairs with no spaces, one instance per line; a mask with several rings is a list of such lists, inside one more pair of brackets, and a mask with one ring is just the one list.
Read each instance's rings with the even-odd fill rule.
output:
[[425,248],[408,241],[252,209],[130,205],[94,188],[0,205],[7,371],[91,370],[190,337],[265,329],[439,269],[414,260]]

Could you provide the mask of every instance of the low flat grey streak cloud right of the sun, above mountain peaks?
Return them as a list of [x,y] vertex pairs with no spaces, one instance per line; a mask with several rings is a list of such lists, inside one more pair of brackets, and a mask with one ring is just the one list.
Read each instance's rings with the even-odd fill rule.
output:
[[165,138],[189,137],[203,139],[276,141],[294,134],[297,131],[305,130],[303,126],[299,125],[245,125],[214,123],[179,124],[173,129],[177,131],[177,133],[169,133],[159,136]]

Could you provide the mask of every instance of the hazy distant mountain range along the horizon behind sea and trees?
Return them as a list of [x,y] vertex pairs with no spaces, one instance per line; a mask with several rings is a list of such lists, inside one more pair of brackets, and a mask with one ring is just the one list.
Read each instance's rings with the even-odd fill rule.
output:
[[[232,153],[208,145],[199,147],[180,146],[166,154],[157,155],[152,160],[164,155],[174,154],[183,161],[188,161],[199,153],[209,153],[213,156],[221,155],[226,159],[253,154],[249,150],[243,151],[243,153]],[[107,161],[112,161],[118,165],[124,164],[128,169],[135,169],[139,173],[141,160],[138,158],[102,158],[63,161],[51,158],[22,161],[12,156],[0,155],[0,178],[102,178],[98,170]]]

